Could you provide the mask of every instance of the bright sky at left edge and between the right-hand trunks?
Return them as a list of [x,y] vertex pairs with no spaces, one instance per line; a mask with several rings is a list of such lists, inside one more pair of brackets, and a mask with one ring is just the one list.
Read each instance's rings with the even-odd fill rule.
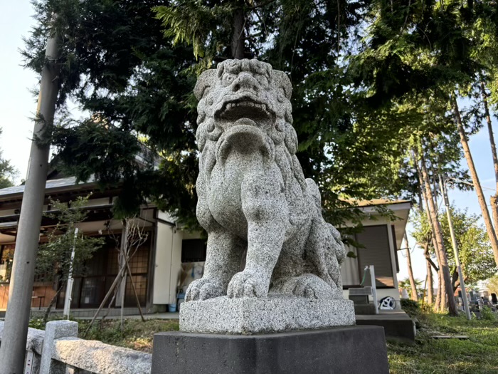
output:
[[[1,1],[0,2],[0,113],[2,113],[3,134],[0,137],[0,149],[3,156],[11,160],[19,170],[18,180],[26,175],[29,147],[33,131],[34,111],[36,98],[30,90],[38,85],[38,77],[32,71],[21,66],[22,58],[18,52],[23,48],[22,37],[27,36],[34,20],[31,18],[33,9],[29,1]],[[496,127],[497,120],[493,118]],[[486,128],[470,139],[470,148],[475,160],[477,172],[483,187],[494,188],[494,170],[492,166],[491,150]],[[462,165],[467,167],[465,160]],[[484,189],[489,202],[492,192]],[[480,207],[474,192],[459,192],[450,189],[450,201],[461,209],[468,208],[470,213],[480,214]],[[410,232],[408,227],[408,232]],[[415,241],[411,238],[410,246]],[[398,279],[408,276],[406,259],[402,255],[400,260],[400,274]],[[412,262],[415,277],[425,279],[425,261],[422,251],[418,248],[412,251]]]

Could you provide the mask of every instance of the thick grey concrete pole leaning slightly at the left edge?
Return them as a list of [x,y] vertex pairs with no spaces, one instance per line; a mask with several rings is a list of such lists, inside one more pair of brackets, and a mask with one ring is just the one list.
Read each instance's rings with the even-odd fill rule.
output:
[[41,73],[40,94],[36,110],[37,120],[33,130],[28,174],[26,175],[26,186],[19,217],[14,264],[9,286],[9,303],[7,304],[4,333],[0,346],[0,374],[23,373],[50,151],[48,143],[41,145],[36,139],[47,140],[46,128],[48,124],[53,122],[59,88],[60,66],[57,63],[59,48],[58,36],[51,36],[46,48],[46,63]]

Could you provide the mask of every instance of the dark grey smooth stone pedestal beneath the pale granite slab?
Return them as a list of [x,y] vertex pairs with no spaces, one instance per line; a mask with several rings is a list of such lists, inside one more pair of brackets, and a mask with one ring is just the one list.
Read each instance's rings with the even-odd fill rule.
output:
[[151,374],[388,374],[378,326],[262,335],[157,333]]

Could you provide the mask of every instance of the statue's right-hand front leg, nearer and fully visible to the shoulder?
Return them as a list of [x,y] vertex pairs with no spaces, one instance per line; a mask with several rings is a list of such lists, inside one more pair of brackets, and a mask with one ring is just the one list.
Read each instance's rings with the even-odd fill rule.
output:
[[248,177],[242,188],[242,209],[248,221],[245,269],[228,284],[228,297],[265,297],[287,232],[288,207],[283,183],[275,177]]

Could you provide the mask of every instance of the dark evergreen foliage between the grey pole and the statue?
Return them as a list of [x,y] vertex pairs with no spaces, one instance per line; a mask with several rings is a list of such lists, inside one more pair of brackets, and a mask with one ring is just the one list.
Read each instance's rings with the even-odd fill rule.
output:
[[[56,167],[100,187],[121,187],[117,217],[151,199],[190,222],[196,146],[190,47],[171,47],[151,9],[164,1],[33,1],[38,24],[26,38],[26,66],[41,72],[46,38],[63,34]],[[57,14],[51,24],[51,14]],[[88,118],[72,120],[73,98]],[[159,164],[159,167],[158,167]]]

